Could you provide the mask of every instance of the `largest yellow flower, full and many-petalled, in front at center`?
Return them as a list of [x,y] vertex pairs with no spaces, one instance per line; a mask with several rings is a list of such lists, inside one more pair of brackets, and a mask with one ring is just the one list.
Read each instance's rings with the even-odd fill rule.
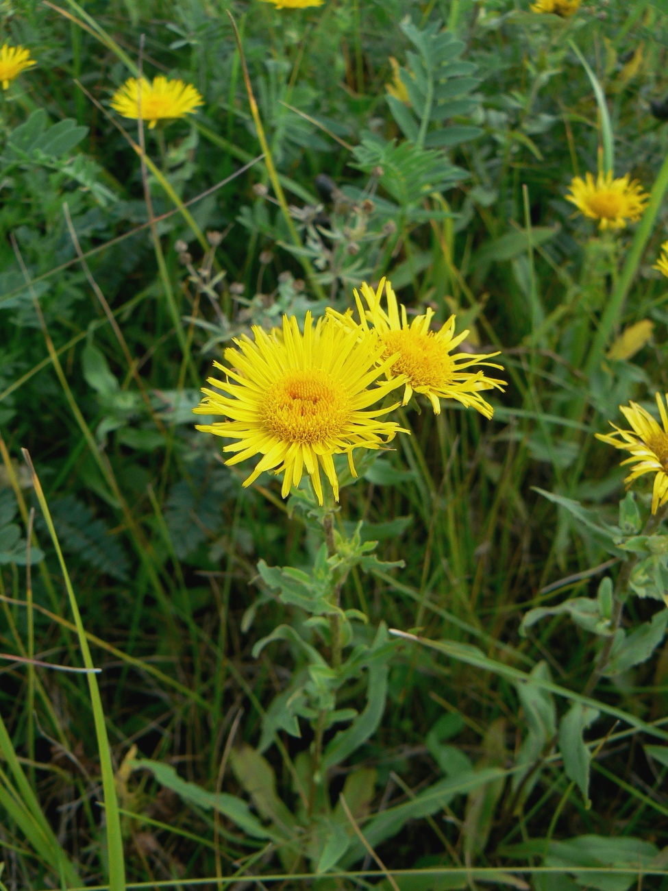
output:
[[224,446],[224,452],[237,453],[228,464],[262,455],[244,486],[250,486],[263,470],[282,472],[285,498],[290,486],[299,485],[305,470],[322,504],[322,466],[338,501],[332,456],[347,454],[356,476],[355,448],[378,449],[396,433],[407,432],[395,421],[379,420],[398,403],[365,411],[403,379],[378,382],[394,356],[383,361],[379,338],[362,342],[359,333],[357,327],[343,328],[327,318],[314,325],[307,313],[302,334],[297,319],[284,315],[282,331],[268,334],[256,326],[254,341],[245,335],[235,339],[237,348],[225,350],[230,367],[214,363],[226,380],[208,378],[208,383],[222,394],[203,388],[205,398],[194,411],[223,414],[228,420],[197,429],[239,440]]

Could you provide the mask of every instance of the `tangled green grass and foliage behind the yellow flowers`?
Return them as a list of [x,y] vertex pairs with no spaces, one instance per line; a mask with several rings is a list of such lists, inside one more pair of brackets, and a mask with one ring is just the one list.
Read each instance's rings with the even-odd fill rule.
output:
[[[260,157],[228,10],[289,215]],[[628,399],[650,407],[668,389],[668,288],[651,269],[665,205],[632,254],[633,227],[599,233],[565,200],[575,174],[598,169],[602,144],[574,46],[607,96],[616,174],[654,184],[668,153],[661,9],[597,0],[560,20],[523,0],[303,11],[2,0],[0,14],[3,39],[37,61],[0,110],[2,887],[107,887],[105,770],[128,881],[310,883],[290,878],[316,868],[306,841],[286,859],[215,794],[244,799],[265,826],[281,808],[297,813],[290,765],[311,743],[307,724],[265,750],[275,790],[262,764],[253,786],[239,753],[257,748],[300,659],[287,642],[251,653],[296,621],[257,562],[308,568],[317,524],[287,512],[271,477],[242,489],[246,474],[223,466],[191,408],[212,360],[251,323],[342,309],[383,274],[410,311],[433,307],[441,322],[456,312],[471,349],[501,348],[509,388],[493,421],[457,405],[411,413],[413,437],[342,490],[338,528],[362,520],[379,557],[405,562],[355,570],[346,607],[371,629],[445,643],[395,644],[379,729],[331,777],[333,807],[353,767],[367,771],[357,818],[363,828],[394,815],[374,850],[398,872],[387,879],[361,849],[315,887],[668,887],[668,649],[657,641],[651,658],[599,681],[589,802],[555,739],[563,691],[585,690],[599,642],[563,613],[519,634],[529,609],[594,597],[607,568],[616,575],[623,554],[601,528],[617,522],[624,474],[593,434]],[[441,27],[460,55],[429,55]],[[405,67],[410,53],[435,82],[477,79],[447,108],[416,112],[385,86],[396,87],[392,59]],[[147,130],[145,163],[134,122],[109,106],[140,61],[205,98],[196,117]],[[644,338],[619,339],[643,320]],[[577,519],[537,488],[590,512]],[[637,490],[645,517],[650,489]],[[85,674],[29,661],[82,666],[73,598],[102,668],[97,705]],[[624,622],[659,608],[636,598]],[[362,709],[363,687],[345,700]],[[439,793],[433,808],[420,799],[483,770],[485,782]]]

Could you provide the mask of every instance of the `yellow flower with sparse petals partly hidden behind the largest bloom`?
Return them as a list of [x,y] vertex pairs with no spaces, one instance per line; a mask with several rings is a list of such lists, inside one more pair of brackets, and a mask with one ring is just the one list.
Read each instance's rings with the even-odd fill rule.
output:
[[[387,312],[381,307],[384,288]],[[375,292],[364,282],[362,294],[369,307],[366,310],[359,293],[354,290],[363,336],[369,336],[371,333],[379,335],[384,347],[382,359],[385,364],[389,363],[388,377],[399,375],[404,379],[403,405],[407,405],[415,391],[428,397],[435,414],[441,413],[441,399],[457,399],[467,408],[477,409],[485,415],[485,418],[492,417],[493,408],[480,396],[480,391],[502,389],[505,380],[486,378],[482,371],[468,372],[465,369],[471,365],[481,364],[502,370],[501,365],[481,361],[498,356],[498,353],[452,354],[452,349],[458,347],[468,335],[468,331],[462,331],[455,336],[454,315],[450,316],[440,331],[429,331],[434,316],[433,309],[428,309],[425,315],[416,316],[409,325],[406,307],[402,305],[400,318],[395,292],[390,282],[386,282],[385,279],[380,280],[378,290]],[[359,331],[350,311],[346,315],[341,315],[328,308],[327,313],[349,329]],[[373,325],[372,329],[369,327],[370,322]]]

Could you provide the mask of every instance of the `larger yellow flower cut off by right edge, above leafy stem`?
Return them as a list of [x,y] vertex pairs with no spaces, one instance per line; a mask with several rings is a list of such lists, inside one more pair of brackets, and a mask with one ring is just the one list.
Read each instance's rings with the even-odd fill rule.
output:
[[635,465],[624,480],[627,488],[634,479],[646,473],[656,474],[652,492],[652,513],[656,513],[660,505],[668,502],[668,413],[660,393],[656,393],[656,405],[664,425],[663,429],[648,411],[631,402],[628,408],[625,405],[619,406],[623,416],[631,424],[630,430],[620,429],[610,421],[615,433],[596,434],[596,438],[608,446],[615,446],[631,453],[631,458],[622,462],[622,465]]

